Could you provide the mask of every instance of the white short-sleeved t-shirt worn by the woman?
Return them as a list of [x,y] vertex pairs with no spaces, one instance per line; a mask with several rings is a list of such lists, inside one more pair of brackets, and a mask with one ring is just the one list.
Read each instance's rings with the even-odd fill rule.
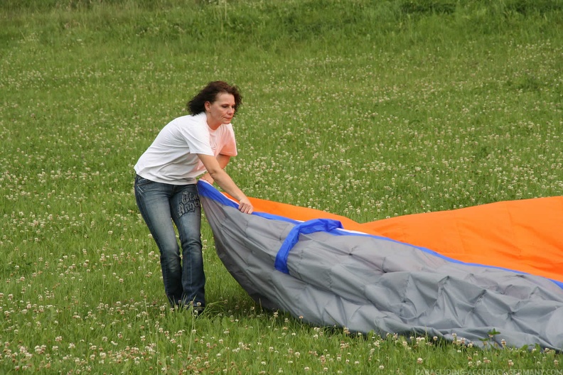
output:
[[157,183],[186,185],[205,173],[196,155],[237,155],[231,124],[211,130],[205,113],[181,116],[170,121],[156,136],[134,166],[138,175]]

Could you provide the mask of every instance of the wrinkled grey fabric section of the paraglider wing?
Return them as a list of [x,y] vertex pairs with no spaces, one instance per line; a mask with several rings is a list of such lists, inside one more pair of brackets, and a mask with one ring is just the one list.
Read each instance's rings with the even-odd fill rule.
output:
[[320,326],[385,335],[493,340],[563,348],[563,290],[539,276],[469,266],[409,244],[325,232],[301,234],[289,275],[274,268],[294,224],[201,198],[221,261],[262,306]]

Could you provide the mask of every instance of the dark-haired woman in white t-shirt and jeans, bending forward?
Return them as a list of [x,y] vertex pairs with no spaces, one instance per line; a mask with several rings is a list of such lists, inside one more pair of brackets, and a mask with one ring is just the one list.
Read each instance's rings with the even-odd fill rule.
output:
[[188,102],[190,115],[164,126],[134,166],[136,203],[159,247],[164,290],[172,307],[193,307],[195,312],[205,308],[198,175],[207,170],[202,178],[215,180],[239,201],[240,211],[252,213],[246,195],[223,170],[237,155],[230,122],[241,104],[236,86],[210,82]]

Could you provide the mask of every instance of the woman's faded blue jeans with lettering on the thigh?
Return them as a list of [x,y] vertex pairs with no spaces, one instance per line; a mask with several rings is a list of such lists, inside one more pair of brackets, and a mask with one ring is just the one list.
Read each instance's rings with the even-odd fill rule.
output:
[[[172,306],[205,307],[205,274],[201,246],[198,188],[169,185],[135,177],[135,199],[160,250],[164,291]],[[176,240],[176,224],[182,247]]]

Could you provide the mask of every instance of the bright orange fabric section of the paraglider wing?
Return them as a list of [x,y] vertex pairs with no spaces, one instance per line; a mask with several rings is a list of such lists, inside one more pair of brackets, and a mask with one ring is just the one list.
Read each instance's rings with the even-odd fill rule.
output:
[[300,221],[336,219],[345,229],[422,246],[459,261],[563,281],[563,197],[496,202],[363,224],[321,210],[250,200],[257,212]]

